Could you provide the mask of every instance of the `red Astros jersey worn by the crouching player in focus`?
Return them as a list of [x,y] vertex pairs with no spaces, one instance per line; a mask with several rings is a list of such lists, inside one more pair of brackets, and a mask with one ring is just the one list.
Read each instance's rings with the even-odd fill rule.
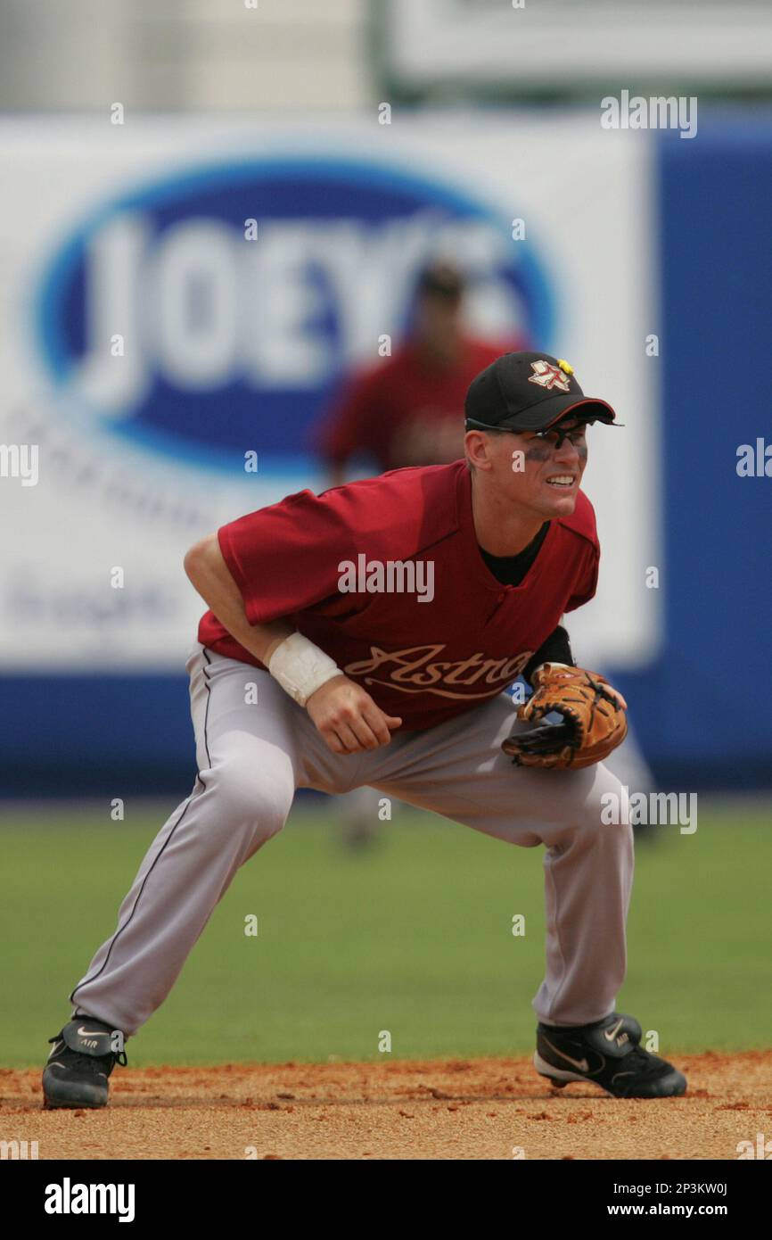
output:
[[[286,620],[405,729],[496,697],[564,611],[592,598],[600,547],[580,491],[572,516],[550,521],[520,585],[502,585],[480,554],[471,487],[465,460],[394,470],[318,496],[300,491],[223,526],[219,547],[247,619]],[[400,593],[410,582],[399,568],[389,575],[395,564],[414,572],[414,593]],[[198,640],[263,667],[211,611]]]

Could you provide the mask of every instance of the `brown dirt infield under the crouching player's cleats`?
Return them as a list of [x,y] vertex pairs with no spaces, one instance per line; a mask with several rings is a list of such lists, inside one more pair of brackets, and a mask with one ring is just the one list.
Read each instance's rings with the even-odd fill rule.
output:
[[116,1069],[104,1111],[0,1074],[0,1140],[43,1158],[726,1158],[772,1137],[772,1053],[674,1055],[682,1099],[553,1090],[529,1060]]

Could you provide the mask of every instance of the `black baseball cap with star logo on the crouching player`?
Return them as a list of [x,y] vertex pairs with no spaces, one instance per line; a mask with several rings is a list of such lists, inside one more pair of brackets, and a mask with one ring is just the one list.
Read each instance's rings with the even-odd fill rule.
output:
[[502,353],[470,383],[465,413],[467,430],[546,430],[568,413],[608,425],[616,418],[606,401],[584,394],[565,358],[549,353]]

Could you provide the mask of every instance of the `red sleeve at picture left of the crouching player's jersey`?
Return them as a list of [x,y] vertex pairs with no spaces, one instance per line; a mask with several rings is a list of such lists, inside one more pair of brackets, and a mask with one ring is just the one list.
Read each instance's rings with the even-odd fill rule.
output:
[[266,624],[337,593],[341,559],[352,558],[353,534],[341,489],[300,491],[217,531],[219,549],[244,600],[250,624]]

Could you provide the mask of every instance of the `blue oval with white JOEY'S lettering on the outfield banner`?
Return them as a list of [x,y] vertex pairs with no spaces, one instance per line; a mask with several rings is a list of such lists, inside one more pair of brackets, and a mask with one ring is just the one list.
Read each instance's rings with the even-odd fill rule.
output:
[[213,469],[296,458],[342,370],[399,340],[436,254],[468,273],[498,339],[550,347],[548,281],[511,227],[364,161],[202,167],[84,222],[38,288],[38,348],[89,430]]

